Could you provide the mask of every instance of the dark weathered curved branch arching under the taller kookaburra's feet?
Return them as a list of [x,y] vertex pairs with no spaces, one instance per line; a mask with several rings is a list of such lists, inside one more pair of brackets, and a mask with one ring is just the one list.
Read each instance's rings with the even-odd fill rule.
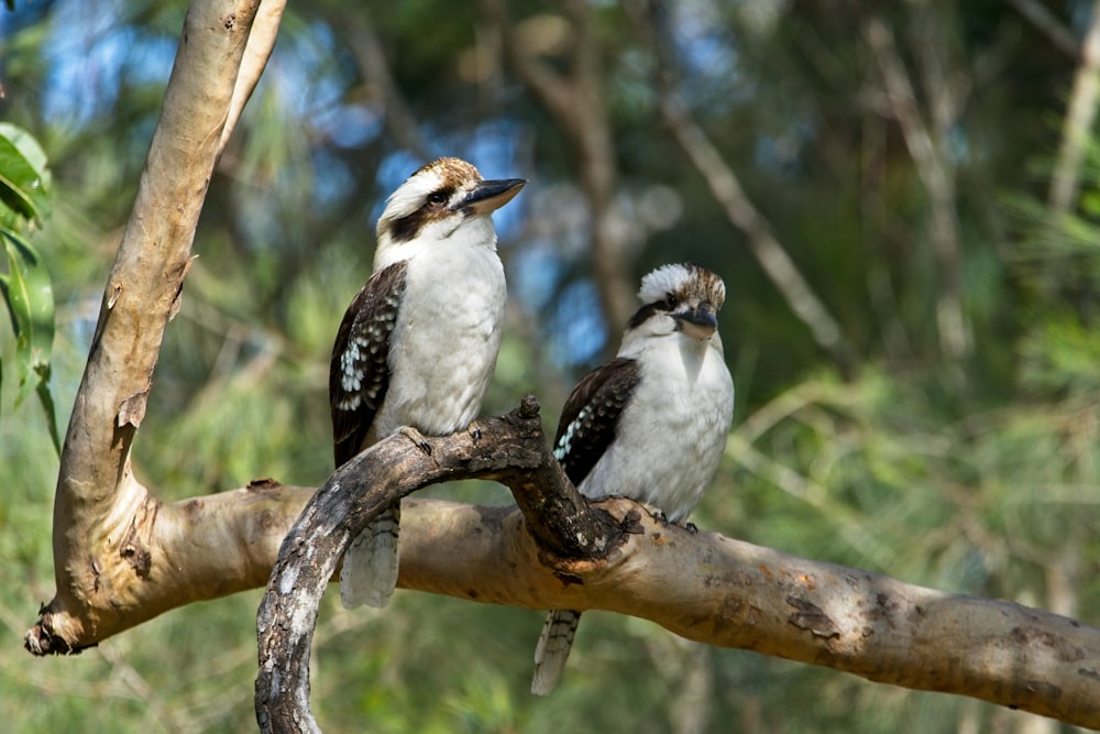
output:
[[[588,507],[547,449],[538,409],[527,397],[503,418],[426,438],[415,450],[404,434],[394,435],[341,467],[318,490],[283,541],[256,616],[255,703],[262,731],[319,731],[309,710],[309,650],[321,594],[352,539],[413,491],[451,479],[498,479],[513,489],[531,535],[551,551],[602,559],[622,545],[624,530]],[[476,599],[481,582],[471,580],[474,584],[461,592]]]

